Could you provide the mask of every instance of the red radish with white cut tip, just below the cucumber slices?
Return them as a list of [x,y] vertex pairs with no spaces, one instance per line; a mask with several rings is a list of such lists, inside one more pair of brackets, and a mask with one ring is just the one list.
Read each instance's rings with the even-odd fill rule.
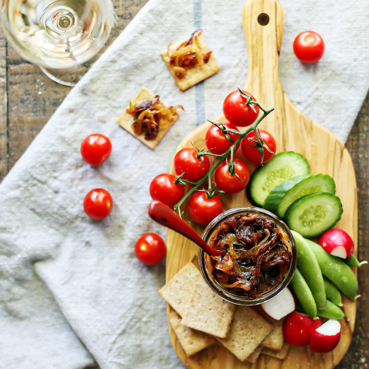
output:
[[351,237],[341,229],[332,228],[324,232],[319,244],[329,254],[348,259],[354,253],[354,242]]

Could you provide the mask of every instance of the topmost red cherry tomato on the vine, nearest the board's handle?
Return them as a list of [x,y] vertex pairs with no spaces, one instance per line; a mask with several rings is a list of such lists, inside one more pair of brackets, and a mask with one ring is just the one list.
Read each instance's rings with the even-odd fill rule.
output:
[[[250,92],[243,92],[251,95]],[[253,95],[251,95],[251,98],[256,101]],[[223,114],[230,123],[237,127],[252,125],[259,115],[259,107],[254,105],[255,113],[250,106],[246,105],[246,101],[247,99],[238,90],[231,92],[224,100]]]

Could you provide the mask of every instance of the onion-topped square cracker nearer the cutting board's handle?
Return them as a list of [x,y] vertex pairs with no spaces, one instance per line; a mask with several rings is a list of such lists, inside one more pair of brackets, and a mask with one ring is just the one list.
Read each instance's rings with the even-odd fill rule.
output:
[[220,70],[201,30],[190,38],[169,45],[161,52],[180,91],[196,85]]

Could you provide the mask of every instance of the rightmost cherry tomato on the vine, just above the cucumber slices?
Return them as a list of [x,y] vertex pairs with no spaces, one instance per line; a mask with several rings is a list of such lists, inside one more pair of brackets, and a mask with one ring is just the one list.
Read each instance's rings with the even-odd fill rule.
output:
[[[264,144],[268,146],[269,150],[273,151],[271,153],[267,149],[264,148],[263,163],[265,163],[271,160],[272,157],[274,156],[276,152],[277,144],[276,144],[274,137],[268,131],[265,131],[262,129],[260,129],[259,131],[260,131],[260,135],[258,134],[259,138],[261,136],[261,138],[264,141]],[[253,142],[252,140],[256,141],[256,135],[254,131],[249,132],[245,137],[243,137],[241,141],[242,153],[250,161],[257,163],[257,164],[261,164],[261,155],[260,155],[259,149],[250,146],[250,145],[255,146],[255,142]]]

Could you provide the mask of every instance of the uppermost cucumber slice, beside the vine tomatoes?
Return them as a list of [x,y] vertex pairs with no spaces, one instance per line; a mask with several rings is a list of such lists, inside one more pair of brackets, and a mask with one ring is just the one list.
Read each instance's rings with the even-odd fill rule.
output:
[[247,187],[248,198],[262,206],[269,193],[288,178],[309,174],[308,161],[294,151],[284,151],[274,156],[252,174]]

